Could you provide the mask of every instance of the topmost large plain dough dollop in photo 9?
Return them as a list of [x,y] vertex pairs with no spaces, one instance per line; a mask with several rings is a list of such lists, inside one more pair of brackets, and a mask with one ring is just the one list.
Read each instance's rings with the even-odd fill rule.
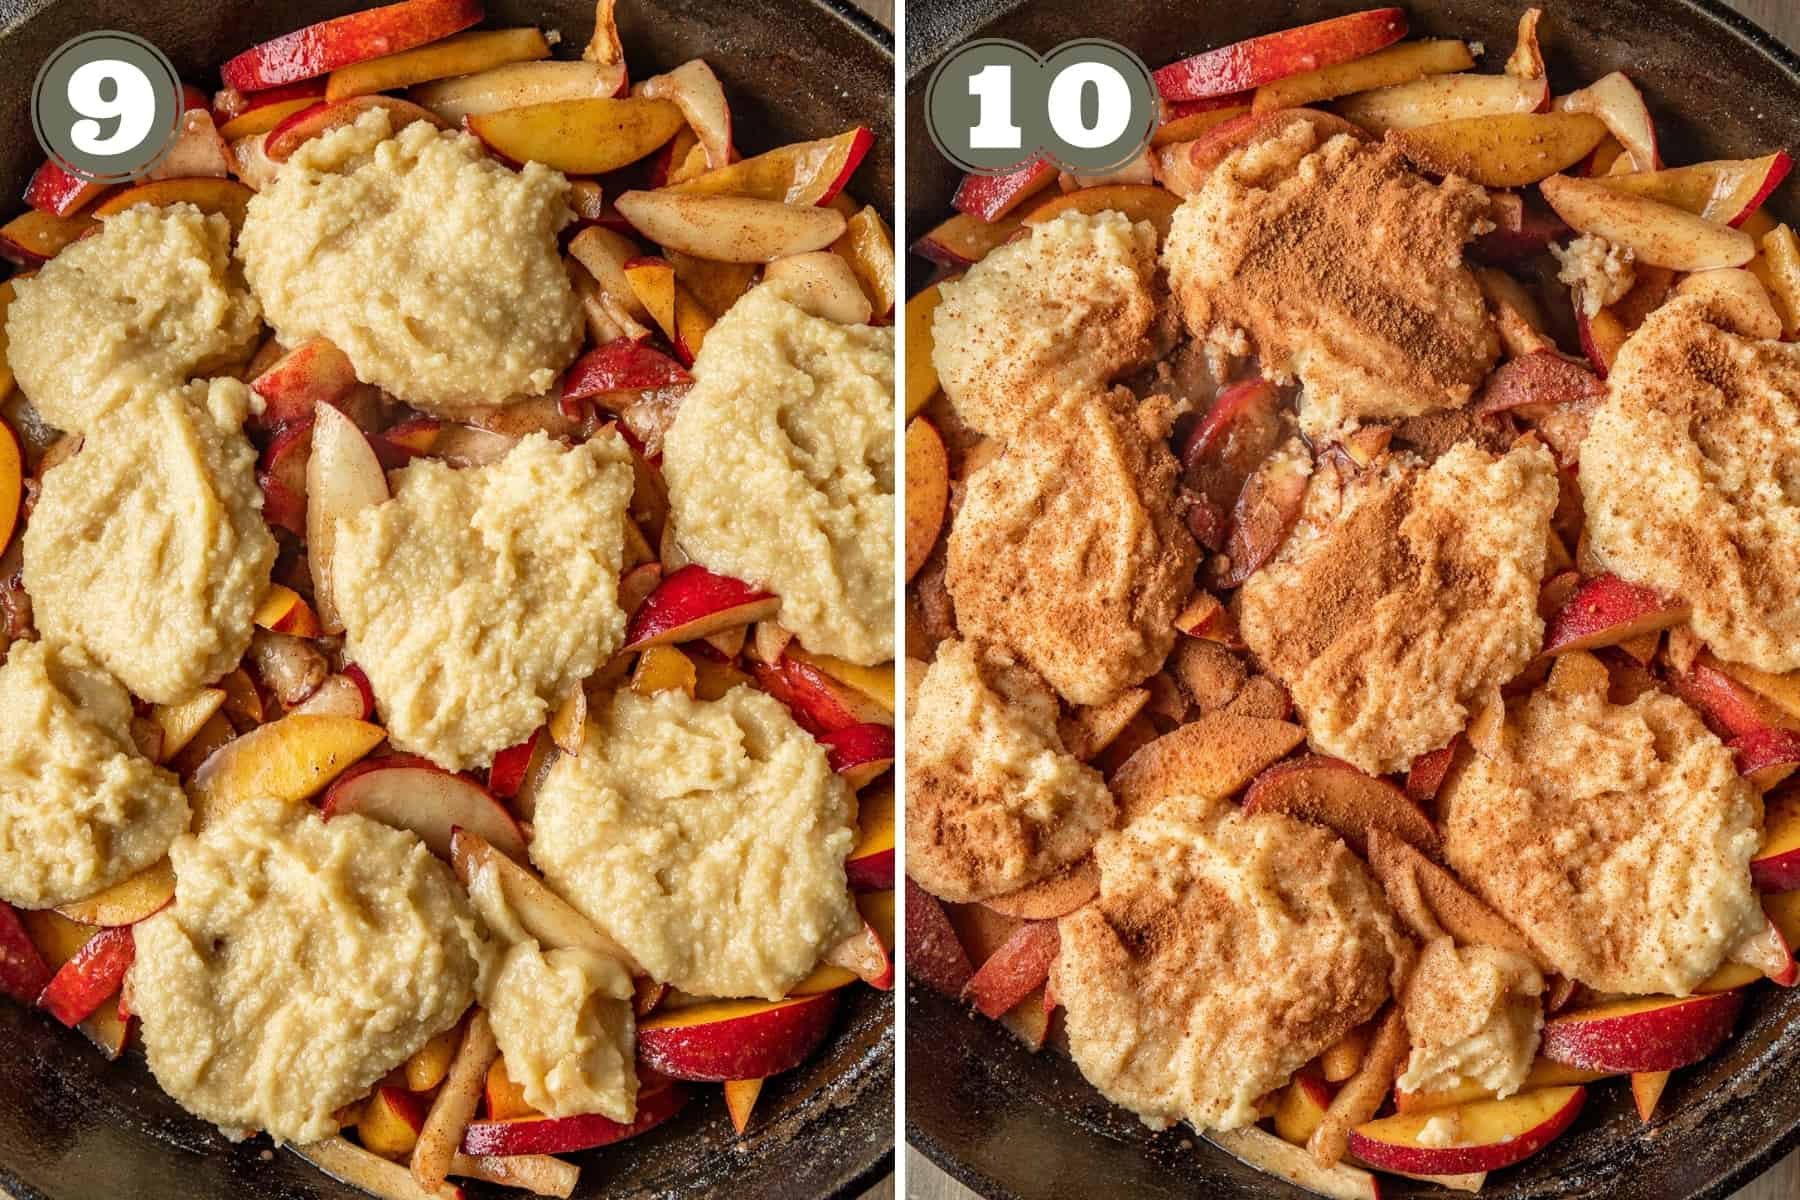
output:
[[571,219],[556,171],[374,110],[293,151],[238,254],[284,344],[329,338],[364,383],[454,416],[540,396],[581,347]]

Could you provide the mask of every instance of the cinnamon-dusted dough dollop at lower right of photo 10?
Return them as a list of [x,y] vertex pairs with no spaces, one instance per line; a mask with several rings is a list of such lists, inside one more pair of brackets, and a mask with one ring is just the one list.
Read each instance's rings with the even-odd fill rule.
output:
[[1562,975],[1687,995],[1762,923],[1760,804],[1732,750],[1661,691],[1546,684],[1510,709],[1445,781],[1445,858]]

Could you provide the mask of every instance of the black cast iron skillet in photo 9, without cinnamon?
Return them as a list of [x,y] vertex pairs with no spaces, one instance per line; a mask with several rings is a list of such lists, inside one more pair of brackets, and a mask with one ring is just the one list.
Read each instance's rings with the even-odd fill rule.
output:
[[[365,0],[0,0],[0,196],[11,214],[41,160],[27,90],[58,45],[94,29],[155,41],[202,86],[238,50]],[[488,25],[563,31],[580,54],[590,0],[488,0]],[[893,40],[839,0],[625,0],[635,72],[704,56],[731,95],[745,151],[866,124],[875,149],[853,191],[893,210]],[[893,1169],[893,999],[846,993],[837,1033],[772,1079],[736,1137],[716,1085],[693,1085],[661,1128],[578,1155],[578,1196],[848,1196]],[[16,1200],[347,1200],[344,1187],[266,1139],[232,1146],[162,1094],[137,1052],[103,1063],[79,1033],[0,1000],[0,1191]],[[470,1186],[475,1196],[522,1193]]]

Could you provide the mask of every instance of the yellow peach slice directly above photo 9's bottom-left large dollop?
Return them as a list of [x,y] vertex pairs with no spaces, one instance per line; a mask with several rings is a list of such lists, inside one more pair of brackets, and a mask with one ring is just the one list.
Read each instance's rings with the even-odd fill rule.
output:
[[290,714],[234,738],[194,772],[196,822],[252,797],[299,804],[311,799],[369,750],[387,730],[340,716]]

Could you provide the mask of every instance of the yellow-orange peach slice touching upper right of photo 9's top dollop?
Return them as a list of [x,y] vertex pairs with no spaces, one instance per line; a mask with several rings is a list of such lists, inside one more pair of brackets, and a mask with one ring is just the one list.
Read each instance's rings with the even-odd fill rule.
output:
[[675,137],[682,115],[668,101],[625,97],[545,101],[470,113],[464,122],[470,133],[513,162],[542,162],[569,175],[605,175]]

